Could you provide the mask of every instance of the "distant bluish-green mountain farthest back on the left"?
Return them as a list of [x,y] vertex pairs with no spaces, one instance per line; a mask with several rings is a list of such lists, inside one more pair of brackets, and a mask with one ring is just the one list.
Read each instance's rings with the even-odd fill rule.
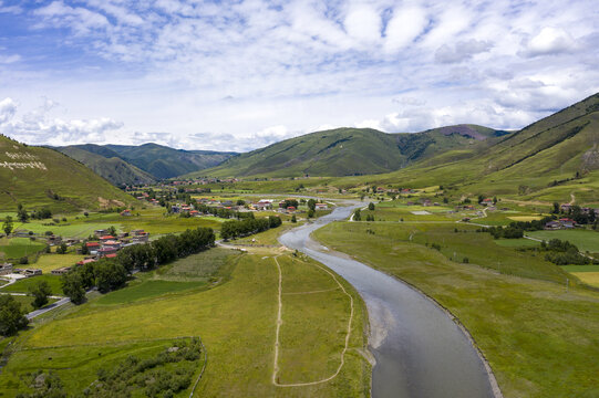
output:
[[116,153],[121,159],[158,179],[214,167],[235,155],[235,153],[174,149],[157,144],[106,145],[104,148]]

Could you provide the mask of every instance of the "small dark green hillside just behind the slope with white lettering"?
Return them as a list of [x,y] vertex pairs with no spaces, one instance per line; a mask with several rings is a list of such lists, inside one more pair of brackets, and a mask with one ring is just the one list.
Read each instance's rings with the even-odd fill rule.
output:
[[[91,147],[97,147],[99,150],[92,151],[90,150]],[[125,160],[118,158],[116,153],[99,145],[73,145],[58,148],[58,150],[81,161],[94,170],[95,174],[104,177],[116,186],[153,184],[156,181],[151,174],[130,165]]]

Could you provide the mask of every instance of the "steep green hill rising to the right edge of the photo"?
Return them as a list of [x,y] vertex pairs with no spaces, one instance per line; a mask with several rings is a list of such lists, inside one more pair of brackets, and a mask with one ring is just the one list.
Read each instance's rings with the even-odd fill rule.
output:
[[[599,94],[521,130],[451,149],[374,176],[380,184],[461,186],[464,192],[518,193],[544,201],[599,203]],[[347,179],[342,185],[359,184]]]

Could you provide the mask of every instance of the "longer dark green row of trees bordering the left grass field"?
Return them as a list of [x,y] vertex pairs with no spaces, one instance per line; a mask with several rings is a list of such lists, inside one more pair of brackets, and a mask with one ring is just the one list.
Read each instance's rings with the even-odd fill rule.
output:
[[186,230],[178,235],[167,235],[151,243],[121,249],[114,259],[75,266],[62,276],[62,290],[71,301],[81,304],[85,291],[97,287],[102,293],[122,287],[133,270],[148,271],[173,260],[198,253],[214,245],[211,228]]

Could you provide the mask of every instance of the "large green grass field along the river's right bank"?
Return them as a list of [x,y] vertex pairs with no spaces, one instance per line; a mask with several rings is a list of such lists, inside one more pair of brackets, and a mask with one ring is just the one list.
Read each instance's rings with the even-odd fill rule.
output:
[[[323,244],[415,285],[448,308],[473,335],[505,397],[599,396],[598,293],[581,289],[567,293],[560,284],[487,269],[495,266],[494,252],[509,249],[489,241],[495,245],[490,251],[478,247],[484,240],[472,240],[486,234],[456,234],[463,244],[455,250],[471,260],[463,264],[421,244],[422,239],[410,243],[402,237],[413,231],[405,227],[335,222],[314,234]],[[424,235],[415,232],[414,241]],[[435,241],[442,243],[442,237]],[[521,269],[520,274],[560,274],[534,266],[534,258],[512,259],[514,272]]]

